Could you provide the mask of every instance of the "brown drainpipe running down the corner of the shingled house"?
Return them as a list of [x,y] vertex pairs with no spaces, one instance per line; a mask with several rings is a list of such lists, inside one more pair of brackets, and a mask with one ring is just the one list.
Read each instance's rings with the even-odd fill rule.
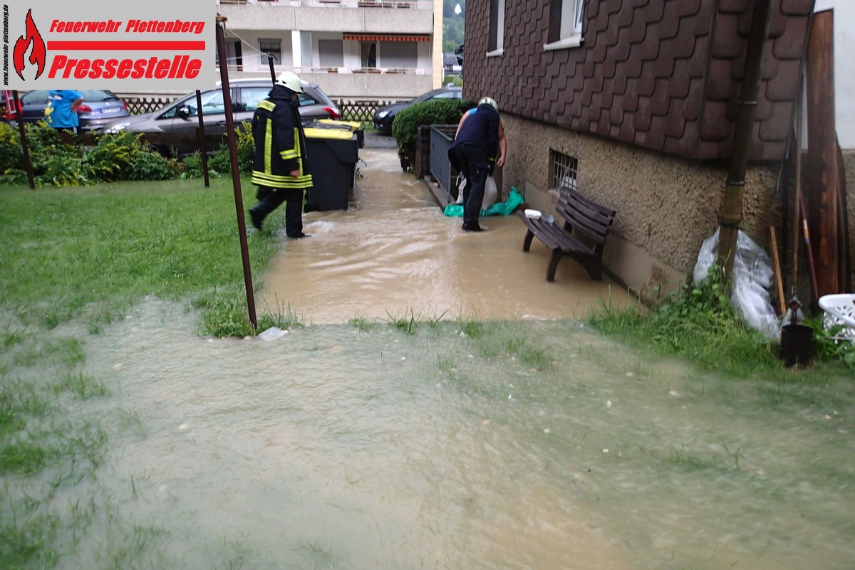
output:
[[734,252],[739,226],[742,221],[742,198],[746,185],[748,149],[751,147],[754,115],[757,112],[757,94],[763,67],[764,44],[769,38],[772,15],[771,0],[754,0],[751,33],[748,37],[746,62],[740,88],[740,106],[736,114],[734,143],[730,155],[728,181],[724,186],[722,207],[718,214],[718,263],[724,265],[724,276],[730,278],[734,270]]

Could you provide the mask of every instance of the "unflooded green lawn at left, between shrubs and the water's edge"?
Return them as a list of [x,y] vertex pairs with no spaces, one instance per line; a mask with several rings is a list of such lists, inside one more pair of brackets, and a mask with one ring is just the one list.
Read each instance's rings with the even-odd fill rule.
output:
[[[242,189],[246,208],[255,188],[245,180]],[[197,300],[208,334],[252,332],[248,317],[240,317],[246,301],[230,178],[211,180],[209,189],[197,179],[0,186],[0,226],[0,305],[25,327],[53,329],[86,314],[97,332],[153,294]],[[248,245],[258,287],[276,239],[251,231]],[[4,342],[17,333],[7,326]]]

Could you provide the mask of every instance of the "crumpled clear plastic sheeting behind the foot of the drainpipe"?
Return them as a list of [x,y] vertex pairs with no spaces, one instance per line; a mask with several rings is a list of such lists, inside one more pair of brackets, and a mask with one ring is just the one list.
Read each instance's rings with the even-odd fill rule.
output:
[[[693,280],[702,282],[709,275],[710,267],[718,253],[718,230],[706,238],[698,253]],[[736,240],[734,258],[733,289],[730,301],[742,313],[742,318],[752,329],[767,338],[777,338],[781,325],[769,297],[774,273],[769,255],[740,230]]]

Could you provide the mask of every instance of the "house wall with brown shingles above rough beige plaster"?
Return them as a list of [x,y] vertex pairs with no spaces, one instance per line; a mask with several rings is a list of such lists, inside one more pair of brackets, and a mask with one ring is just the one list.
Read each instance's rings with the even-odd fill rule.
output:
[[[718,227],[753,5],[469,0],[463,95],[498,101],[504,192],[547,212],[575,185],[617,211],[606,268],[642,295],[676,288]],[[763,247],[813,8],[772,0],[740,224]]]

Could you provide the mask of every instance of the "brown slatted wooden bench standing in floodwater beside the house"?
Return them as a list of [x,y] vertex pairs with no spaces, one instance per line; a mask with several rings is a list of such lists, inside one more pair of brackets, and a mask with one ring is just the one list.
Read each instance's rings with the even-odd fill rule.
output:
[[574,190],[562,189],[556,212],[564,218],[563,224],[557,219],[550,224],[542,218],[526,218],[522,209],[516,212],[528,228],[522,251],[528,252],[534,237],[552,250],[546,281],[555,281],[555,270],[564,256],[581,263],[594,281],[601,281],[603,246],[615,221],[615,211],[588,200]]

